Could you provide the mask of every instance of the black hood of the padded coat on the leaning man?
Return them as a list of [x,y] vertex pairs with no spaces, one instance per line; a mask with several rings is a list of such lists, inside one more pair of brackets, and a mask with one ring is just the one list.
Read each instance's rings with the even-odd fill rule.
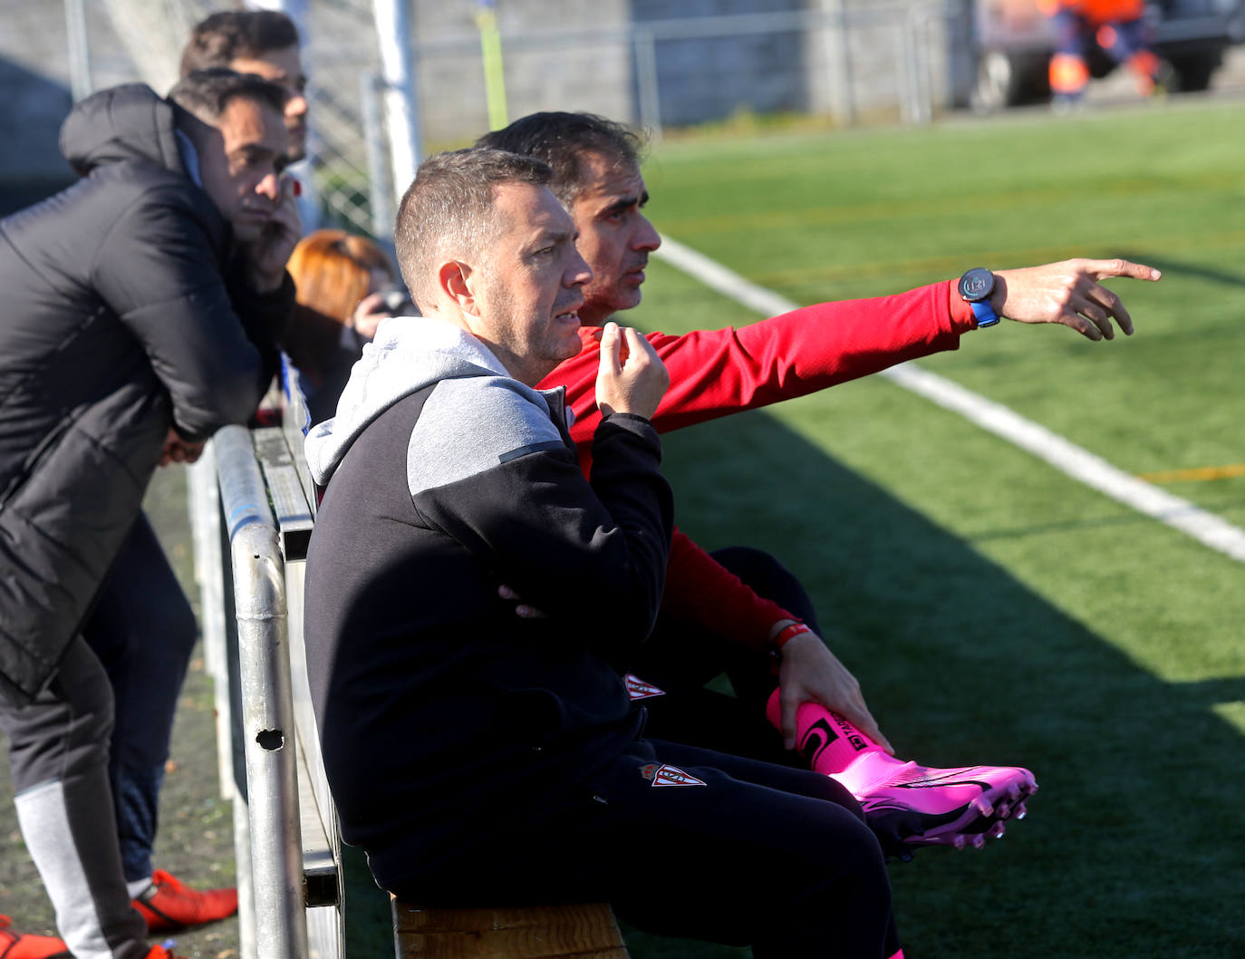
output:
[[75,106],[61,125],[61,153],[81,176],[127,161],[187,174],[177,143],[176,107],[143,83],[101,90]]

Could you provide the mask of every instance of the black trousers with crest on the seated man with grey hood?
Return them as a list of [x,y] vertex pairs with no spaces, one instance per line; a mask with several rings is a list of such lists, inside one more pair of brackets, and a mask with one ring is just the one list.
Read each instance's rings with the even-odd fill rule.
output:
[[881,849],[825,776],[637,740],[579,792],[392,892],[430,905],[605,899],[639,929],[751,945],[757,959],[899,949]]

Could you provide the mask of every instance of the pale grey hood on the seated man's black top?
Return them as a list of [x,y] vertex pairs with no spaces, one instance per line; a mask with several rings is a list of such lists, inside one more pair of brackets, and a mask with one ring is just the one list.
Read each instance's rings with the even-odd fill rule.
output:
[[351,443],[393,404],[441,380],[502,376],[548,412],[550,392],[513,381],[484,344],[459,326],[432,316],[391,316],[350,371],[337,415],[308,432],[306,460],[317,486],[326,486]]

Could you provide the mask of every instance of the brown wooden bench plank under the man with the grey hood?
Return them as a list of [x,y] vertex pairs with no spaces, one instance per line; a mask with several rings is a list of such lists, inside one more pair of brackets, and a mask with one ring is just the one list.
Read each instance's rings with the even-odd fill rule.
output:
[[428,909],[393,900],[397,959],[627,959],[606,903]]

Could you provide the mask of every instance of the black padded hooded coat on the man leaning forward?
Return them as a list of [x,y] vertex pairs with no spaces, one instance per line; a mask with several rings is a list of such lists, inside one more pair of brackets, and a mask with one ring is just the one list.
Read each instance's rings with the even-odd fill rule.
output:
[[293,283],[230,269],[176,111],[128,85],[82,101],[61,151],[83,178],[0,220],[0,694],[56,664],[138,516],[171,426],[245,422]]

